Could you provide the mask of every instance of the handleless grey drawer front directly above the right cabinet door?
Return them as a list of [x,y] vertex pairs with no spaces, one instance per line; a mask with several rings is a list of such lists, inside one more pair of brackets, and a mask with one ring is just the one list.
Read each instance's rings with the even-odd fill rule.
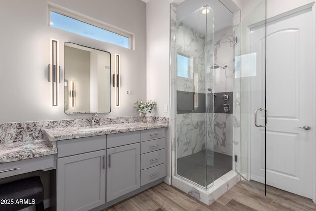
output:
[[107,148],[134,144],[139,142],[139,131],[122,132],[107,135]]

